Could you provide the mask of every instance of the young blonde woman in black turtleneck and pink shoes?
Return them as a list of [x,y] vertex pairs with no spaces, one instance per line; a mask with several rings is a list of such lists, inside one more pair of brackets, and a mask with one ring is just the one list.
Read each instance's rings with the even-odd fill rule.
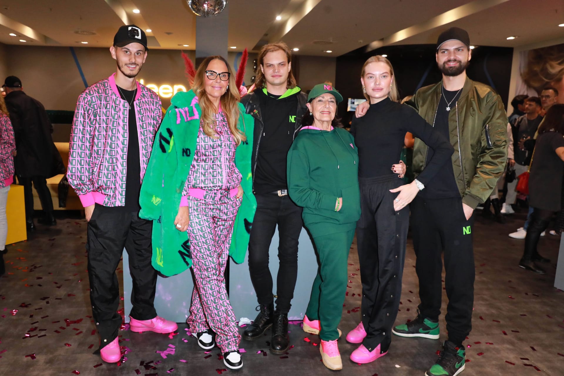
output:
[[[362,321],[349,332],[347,341],[362,343],[352,352],[351,360],[369,363],[385,355],[391,343],[402,290],[408,204],[444,168],[453,148],[414,109],[398,103],[394,70],[385,57],[369,58],[360,81],[370,103],[367,113],[353,118],[351,125],[359,153],[362,214],[356,238],[363,288]],[[412,183],[401,185],[402,180],[390,166],[402,152],[406,132],[424,141],[433,155]]]

